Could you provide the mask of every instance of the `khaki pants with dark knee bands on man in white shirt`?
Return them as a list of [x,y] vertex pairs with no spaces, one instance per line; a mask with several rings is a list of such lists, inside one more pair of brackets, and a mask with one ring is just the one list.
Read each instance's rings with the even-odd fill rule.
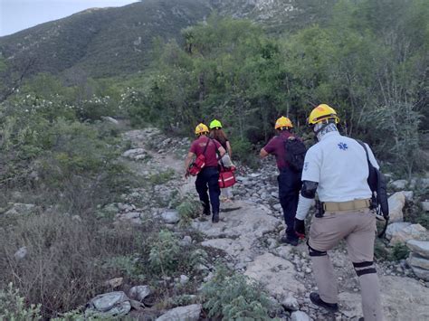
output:
[[328,303],[338,303],[334,269],[326,251],[344,239],[348,257],[358,274],[365,321],[383,320],[380,288],[373,262],[375,238],[376,214],[369,209],[325,212],[323,217],[313,217],[311,222],[310,257],[320,298]]

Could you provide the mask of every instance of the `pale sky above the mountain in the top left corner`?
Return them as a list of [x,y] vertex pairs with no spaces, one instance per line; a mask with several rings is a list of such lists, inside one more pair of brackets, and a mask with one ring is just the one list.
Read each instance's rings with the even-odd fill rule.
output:
[[138,0],[0,0],[0,36],[12,34],[93,7],[129,5]]

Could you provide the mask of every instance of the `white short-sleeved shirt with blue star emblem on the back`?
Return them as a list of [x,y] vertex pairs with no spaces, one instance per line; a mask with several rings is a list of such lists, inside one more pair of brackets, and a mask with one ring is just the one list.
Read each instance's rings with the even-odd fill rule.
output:
[[[369,146],[367,151],[371,164],[378,168]],[[321,202],[370,198],[367,177],[365,149],[355,139],[341,136],[338,132],[325,134],[305,156],[302,181],[319,183],[317,192]]]

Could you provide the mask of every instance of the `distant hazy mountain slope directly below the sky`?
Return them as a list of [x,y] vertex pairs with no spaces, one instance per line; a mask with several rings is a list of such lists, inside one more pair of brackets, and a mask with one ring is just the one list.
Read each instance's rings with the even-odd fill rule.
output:
[[145,0],[119,8],[89,9],[0,38],[5,58],[32,55],[34,71],[78,70],[92,77],[143,71],[155,37],[180,31],[217,11],[253,19],[273,33],[326,19],[337,0]]

